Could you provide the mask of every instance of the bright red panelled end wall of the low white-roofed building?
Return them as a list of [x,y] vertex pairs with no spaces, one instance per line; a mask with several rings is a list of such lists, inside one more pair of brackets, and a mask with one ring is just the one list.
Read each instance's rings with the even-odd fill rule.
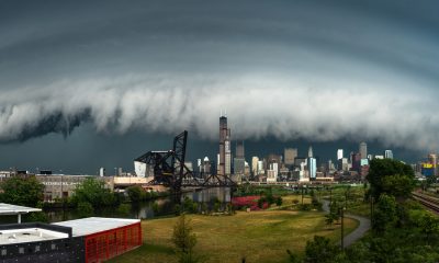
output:
[[110,260],[142,244],[140,222],[86,236],[86,263]]

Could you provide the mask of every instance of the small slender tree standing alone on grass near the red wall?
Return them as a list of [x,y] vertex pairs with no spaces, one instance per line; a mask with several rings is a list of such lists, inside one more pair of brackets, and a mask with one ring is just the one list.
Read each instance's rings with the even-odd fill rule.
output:
[[191,221],[182,214],[173,226],[172,243],[176,245],[179,262],[196,262],[193,256],[193,248],[196,244],[196,236],[192,233]]

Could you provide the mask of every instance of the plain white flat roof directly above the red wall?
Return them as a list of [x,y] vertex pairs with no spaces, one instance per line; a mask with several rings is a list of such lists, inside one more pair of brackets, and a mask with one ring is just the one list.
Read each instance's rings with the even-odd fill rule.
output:
[[88,217],[82,219],[54,222],[52,225],[70,227],[74,237],[88,236],[106,230],[126,227],[139,222],[140,219],[122,219],[106,217]]

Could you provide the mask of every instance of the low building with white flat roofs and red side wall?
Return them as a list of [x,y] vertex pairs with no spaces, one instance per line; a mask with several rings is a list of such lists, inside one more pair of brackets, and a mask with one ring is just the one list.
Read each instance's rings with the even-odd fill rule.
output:
[[142,244],[138,219],[90,217],[0,226],[0,262],[102,262]]

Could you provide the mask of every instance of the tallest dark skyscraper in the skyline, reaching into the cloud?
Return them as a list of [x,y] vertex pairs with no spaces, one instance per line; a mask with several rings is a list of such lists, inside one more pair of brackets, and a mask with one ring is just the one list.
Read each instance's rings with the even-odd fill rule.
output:
[[219,117],[219,162],[218,175],[230,175],[232,151],[230,151],[230,129],[227,128],[227,117]]

